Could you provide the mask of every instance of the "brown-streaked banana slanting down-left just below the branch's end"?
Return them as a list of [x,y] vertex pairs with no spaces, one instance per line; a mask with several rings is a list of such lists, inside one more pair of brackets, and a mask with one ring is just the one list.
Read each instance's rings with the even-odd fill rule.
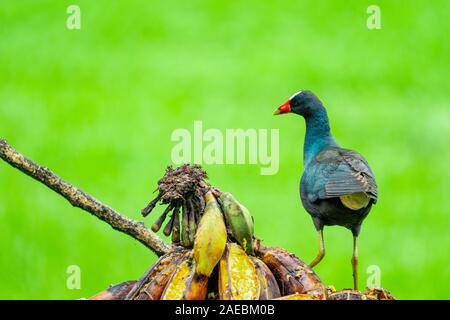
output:
[[130,292],[127,300],[159,300],[173,273],[187,255],[187,250],[179,250],[162,256],[139,280],[139,286]]

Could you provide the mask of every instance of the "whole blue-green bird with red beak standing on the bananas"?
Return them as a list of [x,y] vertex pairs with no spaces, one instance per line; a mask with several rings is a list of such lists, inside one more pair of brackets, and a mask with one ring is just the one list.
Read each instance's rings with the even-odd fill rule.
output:
[[325,107],[312,92],[296,93],[274,114],[290,112],[301,115],[306,122],[300,198],[319,234],[319,253],[310,266],[316,266],[325,256],[324,226],[340,225],[350,229],[353,233],[353,287],[357,290],[357,238],[363,220],[378,199],[375,177],[359,153],[344,149],[336,142]]

